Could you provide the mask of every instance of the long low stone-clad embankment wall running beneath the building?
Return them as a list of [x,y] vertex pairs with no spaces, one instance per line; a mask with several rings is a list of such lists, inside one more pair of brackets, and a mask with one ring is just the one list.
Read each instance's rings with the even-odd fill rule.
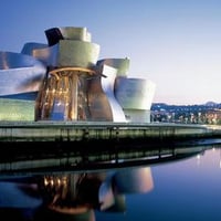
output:
[[[219,130],[220,131],[220,130]],[[149,125],[116,123],[90,124],[18,124],[1,123],[0,140],[6,141],[101,141],[125,139],[179,139],[201,138],[219,135],[217,131],[203,126],[187,125]]]

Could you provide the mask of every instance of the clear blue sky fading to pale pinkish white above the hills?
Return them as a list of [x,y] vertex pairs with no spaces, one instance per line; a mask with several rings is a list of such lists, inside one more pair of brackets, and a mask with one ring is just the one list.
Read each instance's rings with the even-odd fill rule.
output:
[[99,59],[129,57],[154,102],[221,103],[220,0],[1,0],[0,51],[46,43],[54,27],[86,27]]

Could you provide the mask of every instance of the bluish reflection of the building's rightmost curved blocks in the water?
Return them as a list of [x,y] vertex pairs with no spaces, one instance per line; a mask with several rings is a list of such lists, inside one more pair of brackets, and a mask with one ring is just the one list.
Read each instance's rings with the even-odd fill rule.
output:
[[146,193],[152,189],[154,180],[149,167],[117,170],[99,188],[101,210],[124,212],[125,194]]

